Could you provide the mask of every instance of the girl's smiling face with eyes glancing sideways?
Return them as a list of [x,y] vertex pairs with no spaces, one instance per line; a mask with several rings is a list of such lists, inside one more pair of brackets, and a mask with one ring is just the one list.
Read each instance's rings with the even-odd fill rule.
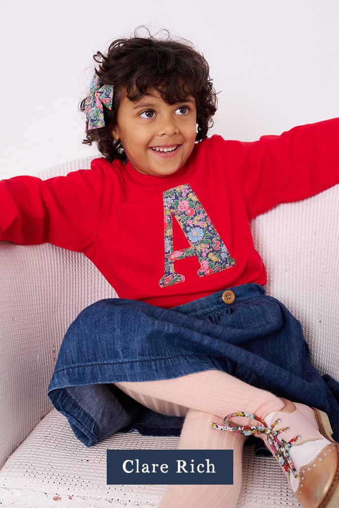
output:
[[126,94],[112,131],[120,139],[133,168],[144,175],[168,176],[186,163],[196,138],[197,109],[188,96],[176,104],[165,102],[159,92],[130,101]]

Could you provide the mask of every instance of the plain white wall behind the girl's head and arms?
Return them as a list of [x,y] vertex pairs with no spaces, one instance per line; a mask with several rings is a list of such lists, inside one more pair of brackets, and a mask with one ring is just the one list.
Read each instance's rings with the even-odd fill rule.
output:
[[0,178],[95,152],[77,110],[91,56],[140,24],[207,57],[220,91],[211,134],[250,141],[339,116],[337,0],[12,0],[1,19]]

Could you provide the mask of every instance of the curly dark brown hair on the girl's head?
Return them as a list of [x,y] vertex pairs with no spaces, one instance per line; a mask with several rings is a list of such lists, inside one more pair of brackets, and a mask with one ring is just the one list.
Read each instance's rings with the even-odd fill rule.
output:
[[[140,28],[140,27],[139,27]],[[148,31],[148,30],[147,30]],[[209,77],[209,67],[204,56],[184,39],[171,39],[166,30],[166,39],[157,39],[148,31],[149,37],[138,37],[138,29],[130,39],[116,39],[104,55],[98,51],[94,60],[99,63],[96,73],[100,85],[114,85],[112,110],[104,109],[105,126],[88,130],[83,143],[97,143],[99,151],[112,162],[114,159],[127,161],[120,140],[115,141],[112,130],[116,126],[116,115],[122,92],[126,91],[131,101],[157,90],[168,104],[186,100],[192,95],[197,108],[196,141],[207,137],[213,125],[212,116],[217,111],[217,94]],[[80,104],[85,110],[85,99]]]

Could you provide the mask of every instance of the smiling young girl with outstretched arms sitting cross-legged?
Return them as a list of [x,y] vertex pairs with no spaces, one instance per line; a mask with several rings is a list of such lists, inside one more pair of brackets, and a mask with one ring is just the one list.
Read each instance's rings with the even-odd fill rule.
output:
[[0,239],[81,251],[121,297],[71,325],[51,401],[86,446],[138,421],[141,404],[167,427],[184,417],[182,449],[234,450],[234,485],[170,486],[162,508],[235,506],[249,434],[305,508],[334,506],[339,406],[300,324],[265,295],[249,221],[339,181],[339,119],[251,143],[207,138],[216,95],[189,43],[120,39],[94,58],[81,108],[85,143],[104,157],[0,183]]

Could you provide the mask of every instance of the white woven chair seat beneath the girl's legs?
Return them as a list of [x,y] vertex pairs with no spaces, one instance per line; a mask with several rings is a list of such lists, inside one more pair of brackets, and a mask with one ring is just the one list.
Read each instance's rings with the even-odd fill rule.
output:
[[[115,434],[86,448],[68,421],[49,412],[0,471],[0,506],[4,508],[119,508],[158,506],[163,485],[107,485],[107,449],[175,449],[177,437]],[[272,458],[243,455],[243,491],[237,508],[298,506],[285,475]],[[268,501],[269,499],[269,501]],[[56,503],[56,501],[58,501]]]

